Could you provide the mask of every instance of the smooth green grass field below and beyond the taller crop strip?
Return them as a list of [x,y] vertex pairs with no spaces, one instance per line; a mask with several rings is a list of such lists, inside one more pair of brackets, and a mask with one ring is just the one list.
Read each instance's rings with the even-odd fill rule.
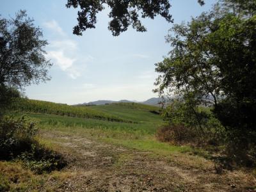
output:
[[[29,100],[31,102],[31,100]],[[35,100],[32,100],[35,102]],[[38,104],[39,101],[36,101]],[[42,106],[42,103],[40,104]],[[60,104],[56,104],[60,105]],[[120,103],[100,106],[65,106],[68,108],[87,111],[97,111],[97,114],[105,116],[115,116],[116,119],[122,119],[123,122],[109,121],[107,118],[95,119],[81,118],[72,116],[52,115],[45,110],[45,113],[32,113],[33,110],[27,110],[26,115],[37,122],[40,129],[68,132],[70,134],[89,135],[93,139],[122,145],[128,148],[138,150],[149,150],[156,154],[168,155],[173,151],[187,151],[188,147],[175,147],[168,143],[161,143],[156,140],[155,133],[157,128],[166,124],[160,115],[154,113],[159,111],[155,106],[144,104]],[[24,114],[24,108],[16,108],[19,111],[17,115]],[[32,111],[32,112],[31,112]],[[35,112],[38,112],[35,110]],[[40,111],[39,111],[40,112]],[[79,111],[80,113],[80,111]]]

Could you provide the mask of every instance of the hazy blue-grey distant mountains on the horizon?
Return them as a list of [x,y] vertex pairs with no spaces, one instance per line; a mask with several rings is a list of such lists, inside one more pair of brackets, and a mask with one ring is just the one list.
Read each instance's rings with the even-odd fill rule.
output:
[[[142,104],[147,104],[150,106],[157,106],[159,104],[159,102],[163,101],[163,99],[161,98],[157,98],[157,97],[153,97],[150,98],[148,100],[145,100],[143,102],[139,102]],[[92,102],[84,102],[83,104],[76,104],[75,106],[99,106],[99,105],[105,105],[105,104],[111,104],[111,103],[115,103],[115,102],[137,102],[137,101],[131,101],[131,100],[96,100],[96,101],[92,101]]]

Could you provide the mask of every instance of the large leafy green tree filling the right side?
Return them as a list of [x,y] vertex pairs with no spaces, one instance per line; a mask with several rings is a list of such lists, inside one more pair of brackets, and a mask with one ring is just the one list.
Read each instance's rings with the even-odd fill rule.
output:
[[[157,63],[157,92],[193,93],[210,104],[237,147],[256,140],[256,1],[220,1],[167,36],[172,51]],[[255,155],[255,154],[254,154]]]

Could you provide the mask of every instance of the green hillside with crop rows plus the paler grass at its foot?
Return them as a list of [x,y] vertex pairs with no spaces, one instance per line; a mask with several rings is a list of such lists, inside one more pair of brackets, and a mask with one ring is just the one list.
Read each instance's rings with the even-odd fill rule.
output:
[[87,132],[100,140],[132,148],[141,148],[144,142],[154,145],[154,134],[164,124],[157,114],[159,108],[145,104],[118,103],[88,107],[17,99],[12,109],[17,111],[17,116],[26,112],[41,129]]

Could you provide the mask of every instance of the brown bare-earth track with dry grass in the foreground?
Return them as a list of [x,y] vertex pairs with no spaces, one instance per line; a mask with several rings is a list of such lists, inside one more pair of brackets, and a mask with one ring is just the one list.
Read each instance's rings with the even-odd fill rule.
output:
[[65,170],[51,173],[47,185],[54,191],[253,191],[256,185],[241,171],[217,174],[214,164],[205,159],[195,166],[195,158],[188,154],[152,157],[150,152],[61,132],[43,136],[70,161]]

